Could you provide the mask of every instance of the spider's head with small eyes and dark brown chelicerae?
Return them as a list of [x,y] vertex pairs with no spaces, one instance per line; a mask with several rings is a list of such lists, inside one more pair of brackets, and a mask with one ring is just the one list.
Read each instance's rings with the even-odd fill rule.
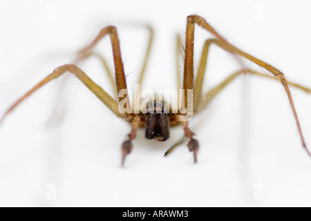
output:
[[145,137],[164,141],[169,139],[169,106],[164,101],[149,102],[145,113]]

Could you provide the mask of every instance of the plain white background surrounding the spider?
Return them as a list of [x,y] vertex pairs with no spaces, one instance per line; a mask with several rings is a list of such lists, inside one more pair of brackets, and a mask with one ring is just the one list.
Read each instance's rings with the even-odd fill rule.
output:
[[[311,87],[310,6],[253,0],[1,1],[0,113],[54,68],[73,61],[75,51],[110,24],[118,27],[129,89],[147,44],[140,22],[156,33],[144,87],[174,87],[175,35],[184,34],[193,13],[238,48]],[[196,61],[208,37],[196,31]],[[97,50],[112,61],[108,38]],[[111,91],[96,59],[81,67]],[[213,46],[205,91],[238,68]],[[200,142],[198,164],[185,145],[163,157],[182,135],[176,128],[162,143],[144,140],[141,131],[121,168],[129,125],[74,77],[59,93],[62,82],[39,90],[1,125],[0,206],[311,206],[311,159],[279,83],[240,77],[196,116],[190,125]],[[311,97],[295,89],[292,95],[311,146]]]

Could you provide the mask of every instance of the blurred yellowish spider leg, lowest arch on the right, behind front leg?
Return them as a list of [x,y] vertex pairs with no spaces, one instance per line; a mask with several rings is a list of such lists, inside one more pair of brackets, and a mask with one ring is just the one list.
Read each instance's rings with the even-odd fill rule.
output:
[[[260,73],[256,70],[252,70],[252,69],[243,69],[243,70],[238,70],[235,73],[233,73],[232,75],[229,75],[229,77],[227,77],[225,80],[223,80],[222,82],[220,82],[220,84],[218,84],[217,86],[215,86],[214,88],[211,88],[211,90],[207,91],[207,93],[205,93],[205,95],[202,95],[202,97],[200,98],[200,102],[198,104],[198,109],[197,109],[197,113],[204,110],[209,103],[211,102],[212,99],[214,99],[214,97],[216,97],[216,95],[218,95],[218,93],[220,93],[220,91],[222,91],[225,86],[227,86],[229,83],[231,83],[234,79],[236,79],[236,77],[242,75],[242,74],[249,74],[249,75],[255,75],[258,77],[266,77],[268,79],[273,79],[275,81],[281,81],[279,78],[277,77],[273,77],[271,75],[267,75],[265,73]],[[297,88],[299,90],[302,90],[305,93],[309,93],[311,94],[311,89],[310,88],[306,88],[305,86],[301,86],[300,84],[296,84],[292,81],[288,81],[288,85]]]

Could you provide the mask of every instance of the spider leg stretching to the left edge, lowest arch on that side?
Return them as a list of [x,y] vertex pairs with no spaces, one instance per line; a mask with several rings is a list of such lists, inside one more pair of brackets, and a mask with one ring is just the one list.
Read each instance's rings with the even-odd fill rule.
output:
[[118,111],[118,103],[115,99],[113,99],[106,91],[104,91],[100,86],[95,84],[94,81],[92,81],[91,78],[89,78],[81,69],[79,69],[77,66],[73,64],[66,64],[63,66],[59,66],[56,68],[53,73],[48,75],[48,77],[44,78],[42,81],[39,82],[34,88],[28,91],[23,97],[17,100],[9,109],[6,111],[6,113],[3,114],[3,116],[0,119],[0,124],[3,122],[3,119],[11,112],[13,111],[21,102],[23,102],[24,99],[29,97],[32,93],[34,93],[36,90],[41,88],[41,86],[44,86],[48,82],[52,81],[53,79],[57,79],[57,77],[63,75],[66,72],[72,73],[75,75],[82,83],[90,89],[106,106],[108,106],[115,115],[118,117],[125,118],[127,115],[122,115],[120,111]]

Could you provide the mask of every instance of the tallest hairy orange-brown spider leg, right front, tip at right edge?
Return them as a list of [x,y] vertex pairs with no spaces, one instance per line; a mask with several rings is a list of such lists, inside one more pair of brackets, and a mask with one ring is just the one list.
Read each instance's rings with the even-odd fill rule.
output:
[[[220,48],[223,48],[223,50],[227,50],[228,52],[231,52],[236,55],[240,55],[241,57],[244,57],[248,59],[249,61],[254,62],[258,66],[261,66],[268,70],[272,75],[274,75],[276,78],[278,78],[281,83],[283,84],[283,87],[285,88],[285,91],[288,95],[288,99],[290,102],[290,106],[292,108],[292,112],[294,114],[294,118],[296,121],[296,126],[299,131],[299,135],[301,137],[301,142],[303,145],[303,148],[308,152],[308,154],[311,156],[311,153],[308,151],[307,146],[305,145],[305,140],[303,137],[303,133],[301,130],[301,126],[299,123],[298,115],[296,113],[296,109],[294,107],[294,102],[292,99],[292,95],[290,93],[290,88],[288,87],[288,81],[285,79],[283,73],[281,73],[280,70],[274,68],[270,64],[265,63],[264,61],[261,61],[260,59],[257,59],[256,57],[247,54],[243,50],[240,50],[233,46],[232,44],[229,44],[229,42],[224,39],[221,35],[212,28],[205,19],[198,15],[189,15],[187,17],[187,30],[186,30],[186,50],[185,50],[185,70],[184,70],[184,88],[194,88],[194,26],[197,24],[198,26],[202,27],[203,29],[207,30],[208,32],[211,32],[217,39],[209,39],[211,43],[214,43]],[[187,95],[185,93],[185,104],[187,104]],[[187,106],[187,105],[186,105]]]

